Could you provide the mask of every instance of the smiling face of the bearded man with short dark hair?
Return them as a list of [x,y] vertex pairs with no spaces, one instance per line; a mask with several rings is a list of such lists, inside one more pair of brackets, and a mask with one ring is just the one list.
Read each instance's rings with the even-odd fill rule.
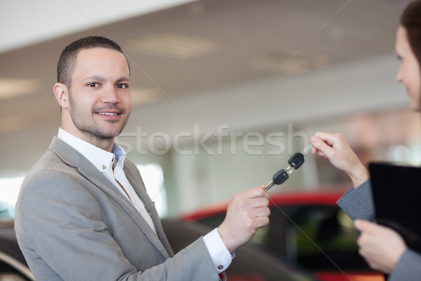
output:
[[126,58],[109,48],[89,48],[77,55],[69,89],[69,115],[74,126],[67,130],[84,141],[114,138],[131,112]]

